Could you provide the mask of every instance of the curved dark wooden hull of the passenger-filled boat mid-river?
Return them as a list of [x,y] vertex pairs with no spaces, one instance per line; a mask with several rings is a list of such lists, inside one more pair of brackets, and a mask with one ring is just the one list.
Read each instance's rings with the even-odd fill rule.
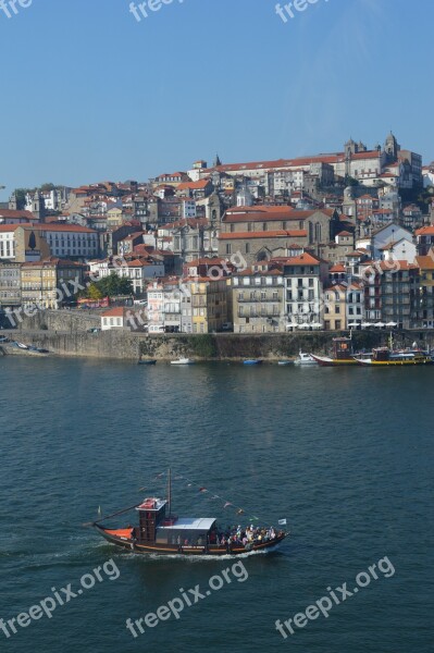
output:
[[137,540],[134,540],[131,535],[132,529],[107,529],[98,523],[94,525],[95,528],[101,533],[101,535],[111,544],[115,544],[122,549],[126,549],[132,553],[137,554],[157,554],[157,555],[176,555],[179,557],[185,556],[223,556],[223,555],[246,555],[252,554],[260,551],[268,551],[274,549],[277,544],[283,542],[288,533],[281,532],[274,540],[266,542],[256,543],[246,549],[245,546],[232,545],[231,549],[216,544],[211,544],[207,549],[206,546],[173,546],[173,545],[158,545],[158,544],[141,544]]

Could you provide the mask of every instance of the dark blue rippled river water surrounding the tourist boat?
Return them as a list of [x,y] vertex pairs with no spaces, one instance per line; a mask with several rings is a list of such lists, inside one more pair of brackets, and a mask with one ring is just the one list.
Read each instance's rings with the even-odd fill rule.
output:
[[[0,618],[16,630],[1,651],[433,650],[434,369],[5,357],[0,372]],[[134,556],[82,526],[161,494],[170,466],[177,514],[286,518],[290,538],[235,566]],[[182,590],[178,618],[126,628]],[[13,621],[54,592],[51,618]]]

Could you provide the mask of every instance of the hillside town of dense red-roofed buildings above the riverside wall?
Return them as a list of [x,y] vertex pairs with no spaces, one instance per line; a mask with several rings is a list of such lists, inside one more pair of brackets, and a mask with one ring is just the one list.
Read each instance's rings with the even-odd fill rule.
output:
[[[20,310],[92,307],[103,330],[149,334],[433,329],[433,274],[434,163],[392,133],[0,205],[3,328]],[[90,293],[112,275],[127,297]]]

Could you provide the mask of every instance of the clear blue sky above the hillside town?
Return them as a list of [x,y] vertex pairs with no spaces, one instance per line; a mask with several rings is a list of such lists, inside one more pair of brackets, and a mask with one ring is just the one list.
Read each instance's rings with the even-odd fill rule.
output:
[[432,0],[318,0],[286,23],[275,4],[173,0],[140,22],[129,0],[0,10],[0,200],[45,182],[142,181],[216,151],[371,147],[390,130],[434,159]]

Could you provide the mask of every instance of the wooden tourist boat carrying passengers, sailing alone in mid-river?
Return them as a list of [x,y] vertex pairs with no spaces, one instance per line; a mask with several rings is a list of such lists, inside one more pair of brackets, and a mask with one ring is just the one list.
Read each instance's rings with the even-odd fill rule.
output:
[[[102,521],[132,509],[138,513],[138,526],[107,528],[101,525]],[[110,543],[131,552],[176,556],[246,555],[273,549],[288,535],[283,530],[275,531],[273,527],[246,527],[241,530],[238,530],[240,527],[235,527],[231,531],[222,531],[214,517],[181,518],[173,515],[170,475],[166,500],[147,497],[140,504],[98,519],[90,526]],[[240,540],[241,535],[236,535],[236,531],[244,532],[245,543]]]

